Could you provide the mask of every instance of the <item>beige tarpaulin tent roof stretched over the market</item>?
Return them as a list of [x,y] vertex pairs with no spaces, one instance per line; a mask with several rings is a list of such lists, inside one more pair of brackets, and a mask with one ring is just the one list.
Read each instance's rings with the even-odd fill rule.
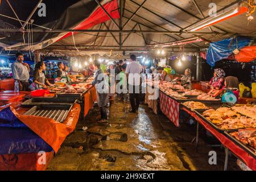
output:
[[[14,3],[14,1],[10,1]],[[56,1],[60,2],[60,1]],[[62,2],[62,1],[61,1]],[[44,26],[53,29],[74,29],[75,27],[80,27],[82,22],[87,22],[90,15],[96,12],[96,10],[100,10],[101,7],[97,5],[94,0],[83,0],[83,1],[73,1],[74,4],[69,6],[57,19],[55,22],[46,23]],[[113,13],[113,18],[117,24],[119,24],[119,16],[115,16],[115,13],[120,14],[121,5],[120,1],[101,1],[102,5],[106,5],[106,3],[112,3],[112,7],[110,7],[110,14]],[[193,1],[187,0],[131,0],[131,1],[123,1],[125,2],[122,8],[123,15],[121,16],[122,25],[127,22],[127,20],[133,16],[127,26],[123,28],[123,30],[142,30],[142,31],[180,31],[183,28],[195,23],[197,20],[202,19],[199,10],[193,3]],[[139,6],[143,6],[139,9]],[[223,7],[229,6],[231,3],[236,2],[233,0],[221,1],[221,0],[213,0],[213,1],[205,1],[205,0],[197,0],[197,5],[199,9],[202,11],[203,16],[208,16],[209,13],[209,3],[216,3],[217,10],[222,9]],[[46,1],[47,5],[47,1]],[[29,5],[28,5],[29,6]],[[119,7],[119,9],[116,8]],[[32,4],[30,5],[31,9],[34,7]],[[139,10],[138,10],[139,9]],[[9,10],[10,11],[10,10]],[[135,13],[136,12],[136,13]],[[19,14],[20,11],[18,11]],[[11,14],[11,13],[10,13]],[[26,13],[27,14],[27,13]],[[104,14],[104,13],[103,13]],[[114,25],[112,20],[108,19],[108,16],[105,15],[105,19],[103,22],[96,21],[94,26],[81,26],[80,28],[90,30],[119,30],[118,27]],[[12,14],[11,16],[14,17]],[[28,15],[27,15],[28,16]],[[26,16],[24,16],[26,17]],[[95,18],[95,16],[94,16]],[[0,16],[0,19],[2,17]],[[24,18],[23,20],[26,20]],[[36,19],[38,20],[38,19]],[[38,23],[38,22],[36,22]],[[38,23],[40,24],[40,23]],[[54,26],[53,26],[54,25]],[[92,24],[90,24],[92,25]],[[119,32],[79,32],[74,34],[75,44],[73,36],[68,36],[67,38],[63,38],[59,41],[63,35],[67,34],[67,32],[62,33],[45,33],[38,32],[34,33],[34,44],[40,43],[39,45],[34,47],[34,49],[43,48],[43,52],[62,52],[66,55],[72,55],[72,53],[76,55],[82,55],[81,52],[103,52],[110,50],[133,50],[133,51],[148,51],[150,49],[154,49],[154,46],[150,46],[150,44],[156,43],[167,43],[174,42],[176,40],[182,40],[186,38],[192,38],[195,36],[201,36],[202,38],[209,40],[211,42],[217,42],[222,39],[229,38],[233,35],[245,35],[245,36],[256,36],[255,32],[256,21],[252,22],[247,21],[246,14],[241,14],[238,16],[234,16],[230,19],[226,19],[224,22],[220,22],[211,26],[212,31],[221,32],[225,34],[209,34],[209,35],[191,35],[191,34],[142,34],[142,33],[125,33],[119,34]],[[209,28],[204,28],[204,32],[211,32]],[[20,33],[12,33],[14,34],[10,38],[1,39],[0,42],[3,44],[7,44],[7,46],[11,46],[16,43],[22,43],[23,38]],[[27,34],[27,33],[26,33]],[[17,37],[19,39],[17,39]],[[27,36],[25,35],[26,40]],[[27,41],[26,41],[27,42]],[[191,48],[189,50],[197,51],[198,48],[208,47],[209,44],[205,44],[205,42],[193,43],[185,46],[185,48]],[[26,49],[27,47],[19,46],[13,47],[15,49]],[[175,47],[176,48],[176,47]],[[79,49],[79,51],[77,51]],[[179,48],[175,50],[179,51]]]

